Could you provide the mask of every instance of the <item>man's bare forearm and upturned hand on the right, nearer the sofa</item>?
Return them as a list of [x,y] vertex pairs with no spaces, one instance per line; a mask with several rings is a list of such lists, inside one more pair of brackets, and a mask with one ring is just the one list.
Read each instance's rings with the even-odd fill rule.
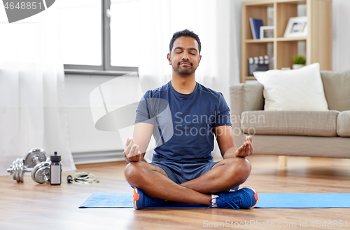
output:
[[214,127],[214,133],[221,155],[224,159],[232,157],[246,157],[253,154],[251,145],[252,137],[246,137],[246,142],[241,147],[237,148],[231,126]]

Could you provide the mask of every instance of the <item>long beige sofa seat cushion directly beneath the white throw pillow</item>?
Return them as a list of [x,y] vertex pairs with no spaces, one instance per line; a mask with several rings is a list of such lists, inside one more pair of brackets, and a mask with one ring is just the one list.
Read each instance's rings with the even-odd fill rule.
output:
[[241,130],[250,135],[337,136],[339,111],[244,111]]

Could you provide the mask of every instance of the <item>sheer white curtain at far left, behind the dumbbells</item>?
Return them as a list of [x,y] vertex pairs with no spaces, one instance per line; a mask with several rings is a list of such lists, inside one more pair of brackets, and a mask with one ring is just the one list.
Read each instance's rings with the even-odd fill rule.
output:
[[57,19],[57,4],[11,24],[0,9],[0,175],[34,147],[48,156],[57,151],[63,170],[76,170],[68,144]]

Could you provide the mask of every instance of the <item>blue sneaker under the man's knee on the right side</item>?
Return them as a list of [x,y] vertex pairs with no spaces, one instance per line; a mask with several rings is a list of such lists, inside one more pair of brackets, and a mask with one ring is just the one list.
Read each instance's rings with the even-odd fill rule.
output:
[[[214,201],[214,199],[216,199]],[[214,202],[213,202],[214,201]],[[245,186],[238,191],[224,191],[218,194],[216,198],[212,198],[213,205],[210,207],[218,208],[233,208],[235,210],[239,208],[254,208],[258,204],[258,194],[255,189],[249,186]]]

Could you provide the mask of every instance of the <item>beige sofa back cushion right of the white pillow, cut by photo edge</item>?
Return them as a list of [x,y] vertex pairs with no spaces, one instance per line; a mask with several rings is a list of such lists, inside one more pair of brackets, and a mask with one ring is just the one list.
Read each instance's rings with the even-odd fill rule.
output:
[[328,109],[350,110],[350,70],[344,72],[321,71]]

